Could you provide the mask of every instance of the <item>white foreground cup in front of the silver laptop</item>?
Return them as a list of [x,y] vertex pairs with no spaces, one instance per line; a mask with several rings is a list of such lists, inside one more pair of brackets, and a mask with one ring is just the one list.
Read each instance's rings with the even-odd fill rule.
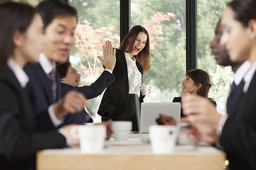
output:
[[172,125],[151,125],[149,128],[152,151],[155,154],[169,154],[174,151],[177,128]]

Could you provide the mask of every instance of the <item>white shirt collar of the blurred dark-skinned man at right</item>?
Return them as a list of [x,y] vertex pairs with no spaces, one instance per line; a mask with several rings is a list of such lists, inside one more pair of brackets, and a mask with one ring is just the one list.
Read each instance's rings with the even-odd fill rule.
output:
[[242,81],[243,77],[250,70],[250,67],[251,67],[251,63],[246,60],[237,69],[236,73],[234,74],[234,83],[236,84],[236,86],[238,86],[240,84],[240,82]]

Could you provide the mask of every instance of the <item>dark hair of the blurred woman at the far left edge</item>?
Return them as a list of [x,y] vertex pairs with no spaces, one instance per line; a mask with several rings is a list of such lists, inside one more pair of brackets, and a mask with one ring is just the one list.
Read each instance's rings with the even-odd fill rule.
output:
[[0,66],[5,66],[13,54],[14,33],[26,32],[36,12],[35,8],[22,3],[7,2],[0,5]]

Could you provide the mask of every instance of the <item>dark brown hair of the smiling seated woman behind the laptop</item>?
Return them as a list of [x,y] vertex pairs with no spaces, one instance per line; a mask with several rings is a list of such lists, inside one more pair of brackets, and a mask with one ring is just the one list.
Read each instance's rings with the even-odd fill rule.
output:
[[208,93],[212,84],[210,83],[210,76],[207,72],[201,69],[190,70],[187,72],[187,76],[189,76],[195,84],[201,84],[201,88],[197,90],[196,94],[204,97],[208,97]]

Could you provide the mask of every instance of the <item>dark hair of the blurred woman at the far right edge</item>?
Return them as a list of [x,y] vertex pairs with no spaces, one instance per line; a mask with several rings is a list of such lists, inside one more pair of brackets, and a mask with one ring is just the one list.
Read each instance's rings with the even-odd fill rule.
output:
[[256,19],[256,1],[255,0],[233,0],[228,3],[235,13],[234,19],[247,27],[251,19]]

